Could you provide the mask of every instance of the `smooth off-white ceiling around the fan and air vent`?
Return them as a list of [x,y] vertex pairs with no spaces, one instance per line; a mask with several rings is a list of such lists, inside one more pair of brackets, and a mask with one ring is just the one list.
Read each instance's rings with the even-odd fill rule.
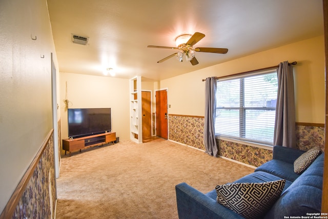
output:
[[[59,71],[159,81],[208,66],[323,35],[321,0],[47,0]],[[176,36],[206,36],[195,47],[198,65],[173,57]],[[89,37],[73,44],[71,34]]]

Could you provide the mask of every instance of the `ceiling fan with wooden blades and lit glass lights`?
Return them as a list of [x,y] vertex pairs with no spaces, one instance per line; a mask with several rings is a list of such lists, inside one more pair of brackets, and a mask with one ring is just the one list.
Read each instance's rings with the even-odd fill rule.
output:
[[203,33],[196,32],[193,35],[191,34],[183,34],[179,35],[175,38],[176,47],[167,47],[167,46],[147,46],[148,48],[160,48],[160,49],[176,49],[179,50],[168,57],[165,57],[159,60],[157,63],[162,63],[169,58],[177,56],[178,60],[182,62],[182,58],[185,55],[187,61],[189,61],[192,65],[197,65],[198,61],[195,57],[195,52],[211,52],[211,53],[222,53],[226,54],[228,49],[223,48],[211,48],[211,47],[197,47],[193,48],[193,46],[200,41],[205,36]]

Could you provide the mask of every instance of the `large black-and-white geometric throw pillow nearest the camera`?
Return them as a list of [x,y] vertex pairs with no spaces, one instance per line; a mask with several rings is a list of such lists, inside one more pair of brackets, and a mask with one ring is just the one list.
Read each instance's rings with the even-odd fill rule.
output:
[[216,186],[217,201],[245,218],[261,218],[278,200],[285,180]]

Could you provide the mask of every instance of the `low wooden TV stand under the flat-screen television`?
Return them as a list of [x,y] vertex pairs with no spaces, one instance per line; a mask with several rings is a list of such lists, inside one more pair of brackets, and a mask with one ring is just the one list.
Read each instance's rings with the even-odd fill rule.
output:
[[114,144],[114,141],[116,141],[116,132],[106,132],[73,139],[67,138],[63,139],[63,150],[65,150],[65,154],[68,151],[71,155],[72,151],[80,150],[81,152],[81,149],[104,145],[110,142]]

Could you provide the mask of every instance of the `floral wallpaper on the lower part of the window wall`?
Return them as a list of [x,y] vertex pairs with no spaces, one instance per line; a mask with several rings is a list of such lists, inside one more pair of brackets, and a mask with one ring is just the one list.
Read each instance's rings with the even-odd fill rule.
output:
[[[169,115],[169,139],[205,150],[203,144],[204,117]],[[219,155],[258,167],[272,159],[272,150],[216,140]],[[301,150],[315,146],[324,148],[324,128],[296,125],[296,144]]]

